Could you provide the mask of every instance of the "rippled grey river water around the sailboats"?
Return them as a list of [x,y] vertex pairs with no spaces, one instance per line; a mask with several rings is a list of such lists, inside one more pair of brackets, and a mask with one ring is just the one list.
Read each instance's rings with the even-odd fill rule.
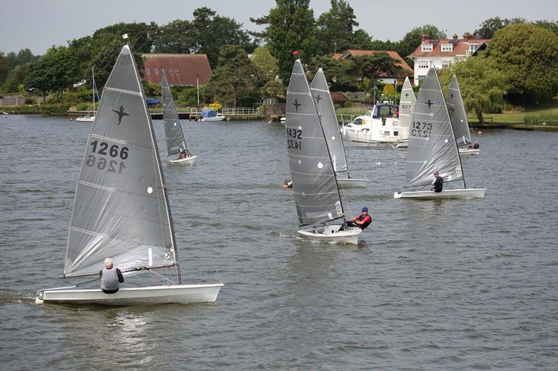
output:
[[225,287],[99,308],[33,303],[75,283],[57,276],[89,125],[0,120],[1,370],[557,368],[558,133],[479,135],[463,167],[484,200],[394,200],[405,150],[348,143],[370,179],[349,214],[373,223],[345,246],[296,238],[280,124],[186,121],[197,162],[164,165],[183,276]]

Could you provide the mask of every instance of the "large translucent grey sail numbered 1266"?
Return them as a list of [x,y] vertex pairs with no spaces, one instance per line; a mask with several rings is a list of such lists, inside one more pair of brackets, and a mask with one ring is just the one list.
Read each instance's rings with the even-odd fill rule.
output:
[[177,265],[171,220],[151,117],[126,45],[87,140],[64,275],[98,274],[107,257],[121,270]]

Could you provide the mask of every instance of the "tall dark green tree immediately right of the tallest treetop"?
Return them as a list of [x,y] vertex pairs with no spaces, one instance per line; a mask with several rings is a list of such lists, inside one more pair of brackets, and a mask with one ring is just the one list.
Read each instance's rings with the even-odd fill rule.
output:
[[345,0],[331,0],[329,12],[320,15],[317,26],[317,53],[331,54],[353,47],[354,10]]

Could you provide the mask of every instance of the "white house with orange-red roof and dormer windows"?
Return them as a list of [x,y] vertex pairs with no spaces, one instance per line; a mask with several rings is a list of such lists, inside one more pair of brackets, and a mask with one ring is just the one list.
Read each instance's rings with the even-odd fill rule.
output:
[[453,35],[452,39],[430,39],[426,34],[421,39],[421,45],[409,55],[414,61],[415,85],[424,79],[428,68],[446,68],[455,61],[462,61],[485,49],[490,42],[490,39],[474,39],[468,32],[463,34],[462,39],[458,39],[458,35]]

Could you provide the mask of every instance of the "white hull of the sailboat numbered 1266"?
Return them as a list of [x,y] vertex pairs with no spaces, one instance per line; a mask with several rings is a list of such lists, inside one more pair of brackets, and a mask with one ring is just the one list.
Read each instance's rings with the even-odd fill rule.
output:
[[223,283],[121,288],[114,294],[100,289],[39,290],[35,302],[136,306],[168,303],[206,303],[216,301]]

